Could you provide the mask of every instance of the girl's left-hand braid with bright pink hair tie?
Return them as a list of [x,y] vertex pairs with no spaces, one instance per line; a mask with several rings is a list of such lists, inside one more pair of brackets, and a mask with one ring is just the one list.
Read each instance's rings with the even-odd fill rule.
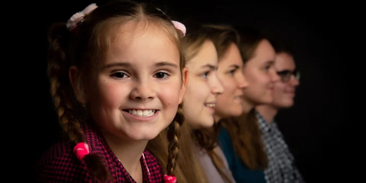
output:
[[70,142],[75,145],[74,153],[76,157],[85,161],[89,173],[94,178],[107,181],[110,173],[100,156],[89,154],[89,148],[85,143],[80,123],[75,117],[75,104],[73,102],[76,99],[68,77],[68,69],[71,66],[68,55],[70,34],[64,23],[55,24],[49,32],[50,47],[48,50],[47,74],[50,79],[51,96],[63,132],[68,135]]

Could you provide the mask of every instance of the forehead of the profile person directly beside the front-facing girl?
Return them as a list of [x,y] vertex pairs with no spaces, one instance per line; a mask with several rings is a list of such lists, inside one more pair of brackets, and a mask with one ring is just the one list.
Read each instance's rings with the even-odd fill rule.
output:
[[190,70],[200,69],[203,65],[217,65],[217,52],[212,41],[205,41],[199,52],[191,60],[188,60],[187,67]]

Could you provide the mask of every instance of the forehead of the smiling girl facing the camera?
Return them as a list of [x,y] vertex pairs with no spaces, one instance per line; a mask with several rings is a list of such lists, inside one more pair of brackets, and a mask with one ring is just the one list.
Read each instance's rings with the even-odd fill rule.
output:
[[119,27],[112,37],[106,61],[142,60],[179,61],[179,51],[173,38],[161,28],[153,24],[129,21]]

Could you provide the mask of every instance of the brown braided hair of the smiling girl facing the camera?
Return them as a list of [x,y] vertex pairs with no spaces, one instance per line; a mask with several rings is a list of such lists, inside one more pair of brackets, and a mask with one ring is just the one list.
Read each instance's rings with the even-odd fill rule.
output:
[[[174,28],[169,17],[153,6],[132,1],[110,1],[89,13],[72,32],[66,23],[57,23],[49,31],[49,50],[47,73],[50,79],[50,92],[57,110],[59,122],[71,144],[85,143],[80,129],[80,122],[85,121],[87,106],[83,101],[87,95],[89,76],[98,61],[105,58],[118,28],[127,21],[146,23],[159,28],[170,36],[180,53],[180,69],[185,65],[185,57],[180,46],[180,33]],[[71,85],[68,70],[76,66],[81,74]],[[78,111],[75,111],[78,110]],[[177,158],[179,125],[183,117],[179,110],[174,121],[169,125],[167,136],[168,160],[167,174],[172,175]],[[168,142],[167,142],[168,143]],[[110,172],[104,165],[104,159],[95,154],[84,156],[87,168],[93,177],[101,181],[110,179]]]

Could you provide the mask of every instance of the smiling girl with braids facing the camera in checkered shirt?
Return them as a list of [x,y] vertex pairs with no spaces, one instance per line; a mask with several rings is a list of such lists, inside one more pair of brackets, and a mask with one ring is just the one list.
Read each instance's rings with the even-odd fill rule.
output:
[[89,5],[50,30],[48,76],[66,140],[35,168],[38,182],[175,182],[145,149],[168,128],[176,149],[177,113],[188,82],[180,46],[185,26],[131,1]]

